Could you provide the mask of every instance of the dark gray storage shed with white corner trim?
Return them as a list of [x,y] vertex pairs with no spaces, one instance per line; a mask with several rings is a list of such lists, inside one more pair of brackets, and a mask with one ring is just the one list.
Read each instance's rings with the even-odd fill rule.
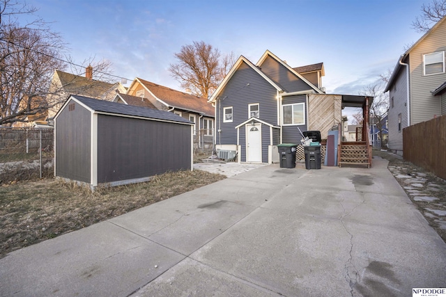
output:
[[54,129],[56,177],[91,188],[192,170],[193,123],[174,113],[71,95]]

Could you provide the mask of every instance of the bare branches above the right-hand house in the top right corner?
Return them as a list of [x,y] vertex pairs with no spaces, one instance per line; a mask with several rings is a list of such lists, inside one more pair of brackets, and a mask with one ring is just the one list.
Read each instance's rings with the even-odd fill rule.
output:
[[421,15],[412,22],[412,28],[420,33],[425,33],[431,29],[433,24],[446,15],[446,0],[433,0],[431,3],[422,6]]

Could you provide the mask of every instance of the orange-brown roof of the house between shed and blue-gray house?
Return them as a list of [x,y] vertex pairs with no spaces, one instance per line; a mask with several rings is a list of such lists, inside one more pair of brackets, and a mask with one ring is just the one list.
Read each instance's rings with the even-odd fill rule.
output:
[[150,92],[155,99],[168,107],[201,113],[212,118],[214,117],[215,110],[213,106],[208,103],[206,98],[197,97],[180,92],[179,90],[160,86],[144,79],[137,78],[136,80],[141,83],[141,85],[144,86],[144,88],[146,88],[146,90],[148,90],[148,92]]

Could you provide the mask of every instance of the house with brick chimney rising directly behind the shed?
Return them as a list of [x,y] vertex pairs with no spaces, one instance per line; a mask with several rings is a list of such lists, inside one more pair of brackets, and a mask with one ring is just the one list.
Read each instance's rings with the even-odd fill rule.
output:
[[127,89],[120,82],[107,83],[93,79],[93,67],[86,67],[85,77],[55,70],[47,95],[49,106],[48,118],[54,118],[57,111],[70,95],[81,95],[95,99],[112,101],[116,93],[126,93]]

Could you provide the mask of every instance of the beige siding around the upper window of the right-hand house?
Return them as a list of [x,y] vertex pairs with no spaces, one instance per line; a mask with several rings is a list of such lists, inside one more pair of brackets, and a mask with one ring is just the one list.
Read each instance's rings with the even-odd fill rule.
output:
[[410,51],[410,125],[431,120],[440,115],[440,98],[431,94],[446,81],[446,73],[424,76],[423,55],[446,51],[446,22]]

